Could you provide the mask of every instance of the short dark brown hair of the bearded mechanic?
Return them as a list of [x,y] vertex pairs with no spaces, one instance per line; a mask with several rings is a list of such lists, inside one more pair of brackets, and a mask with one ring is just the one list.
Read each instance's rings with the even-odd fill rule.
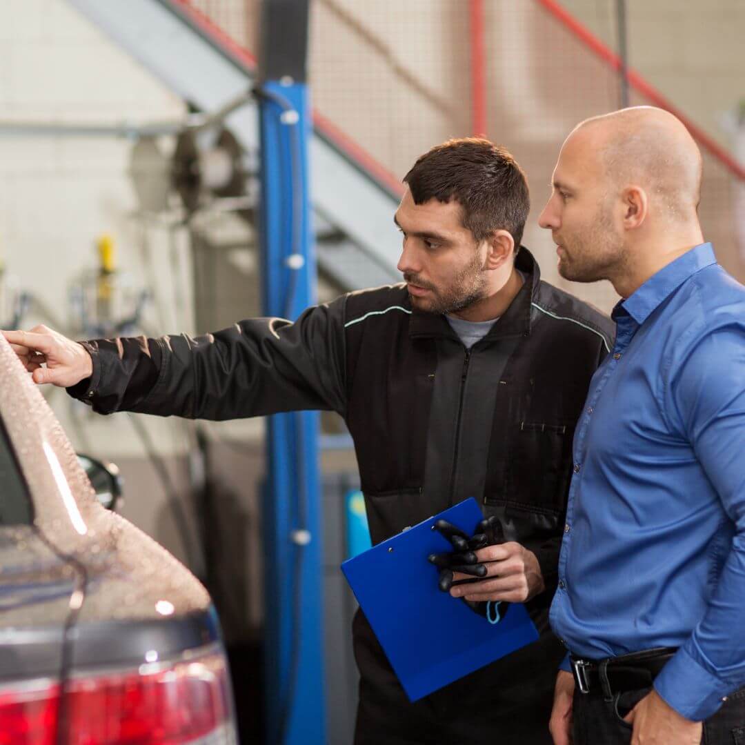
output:
[[522,168],[501,145],[478,137],[448,140],[419,156],[404,183],[416,204],[457,200],[463,209],[463,227],[476,241],[495,230],[507,230],[517,252],[530,194]]

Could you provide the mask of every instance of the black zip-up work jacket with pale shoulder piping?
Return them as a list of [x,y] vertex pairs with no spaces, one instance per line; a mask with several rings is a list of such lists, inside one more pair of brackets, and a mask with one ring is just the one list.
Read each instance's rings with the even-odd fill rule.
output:
[[530,608],[545,632],[574,425],[614,326],[542,282],[527,249],[516,266],[527,281],[469,351],[444,317],[413,311],[394,285],[309,308],[295,323],[88,342],[92,377],[70,393],[101,413],[337,411],[355,442],[373,542],[475,497],[538,557],[547,589]]

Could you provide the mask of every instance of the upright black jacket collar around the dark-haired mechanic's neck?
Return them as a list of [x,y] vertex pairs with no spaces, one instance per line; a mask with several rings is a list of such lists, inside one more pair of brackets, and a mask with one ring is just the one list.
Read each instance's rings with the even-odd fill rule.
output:
[[[525,275],[525,282],[516,294],[510,307],[484,337],[485,339],[504,339],[530,335],[530,303],[537,297],[541,282],[538,262],[524,246],[520,247],[515,259],[515,267]],[[446,317],[414,310],[409,321],[411,338],[443,337],[458,340]]]

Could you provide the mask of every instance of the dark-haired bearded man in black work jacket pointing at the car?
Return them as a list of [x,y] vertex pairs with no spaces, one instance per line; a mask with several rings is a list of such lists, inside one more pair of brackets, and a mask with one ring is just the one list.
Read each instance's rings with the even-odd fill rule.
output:
[[564,650],[547,615],[571,440],[612,324],[542,282],[519,248],[527,183],[503,148],[446,142],[405,183],[395,217],[405,284],[347,294],[295,323],[244,320],[195,339],[6,336],[35,381],[70,387],[101,413],[337,411],[355,441],[373,543],[478,498],[507,543],[482,549],[495,560],[467,597],[527,601],[539,641],[410,704],[358,612],[355,743],[550,743]]

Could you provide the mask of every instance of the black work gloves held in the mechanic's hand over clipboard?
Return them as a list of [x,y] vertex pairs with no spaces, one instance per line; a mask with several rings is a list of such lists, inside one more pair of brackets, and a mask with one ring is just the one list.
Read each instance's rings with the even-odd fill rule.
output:
[[[504,529],[498,517],[492,516],[481,520],[476,526],[476,532],[469,538],[463,530],[455,527],[446,520],[438,520],[434,524],[435,530],[444,536],[455,549],[449,554],[430,554],[429,561],[440,568],[440,582],[438,586],[443,592],[453,584],[464,584],[476,580],[460,580],[453,582],[453,572],[460,571],[462,574],[470,574],[472,577],[486,577],[486,565],[478,563],[475,551],[486,546],[504,543]],[[490,623],[496,624],[503,615],[505,603],[494,603],[491,600],[466,600],[461,597],[463,603],[469,608],[484,616]]]

